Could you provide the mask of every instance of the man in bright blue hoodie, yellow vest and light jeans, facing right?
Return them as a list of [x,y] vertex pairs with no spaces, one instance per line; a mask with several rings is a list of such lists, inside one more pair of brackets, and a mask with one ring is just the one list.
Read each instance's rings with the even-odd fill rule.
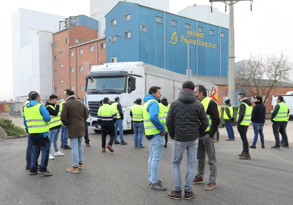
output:
[[149,184],[151,189],[166,190],[158,179],[159,163],[162,159],[163,146],[165,145],[166,129],[162,121],[165,119],[164,112],[160,112],[159,102],[161,91],[158,86],[151,86],[149,94],[144,96],[144,131],[149,141]]

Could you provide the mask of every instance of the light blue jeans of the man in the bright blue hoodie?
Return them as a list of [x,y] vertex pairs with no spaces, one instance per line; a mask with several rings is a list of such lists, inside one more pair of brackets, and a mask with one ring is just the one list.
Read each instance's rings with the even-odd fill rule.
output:
[[158,181],[159,163],[162,159],[165,136],[158,135],[149,141],[149,181],[154,184]]

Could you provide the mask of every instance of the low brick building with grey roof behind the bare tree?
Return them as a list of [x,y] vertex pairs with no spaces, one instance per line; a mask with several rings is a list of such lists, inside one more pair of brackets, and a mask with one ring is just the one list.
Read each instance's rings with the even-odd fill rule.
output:
[[[224,105],[224,100],[228,99],[228,77],[219,77],[219,76],[193,76],[195,79],[199,79],[205,82],[210,82],[214,85],[218,86],[218,99],[219,105]],[[237,83],[237,82],[236,82]],[[262,83],[266,83],[266,80],[263,80]],[[243,89],[247,89],[247,85],[242,86]],[[278,82],[276,88],[272,88],[270,91],[268,98],[265,102],[266,112],[267,114],[271,113],[271,106],[272,106],[272,95],[285,95],[287,92],[293,90],[293,83],[286,83],[286,82]],[[236,90],[236,105],[239,105],[239,101],[237,99],[239,91]],[[210,93],[209,93],[210,94]],[[248,96],[249,100],[251,96]],[[252,103],[254,106],[255,104]]]

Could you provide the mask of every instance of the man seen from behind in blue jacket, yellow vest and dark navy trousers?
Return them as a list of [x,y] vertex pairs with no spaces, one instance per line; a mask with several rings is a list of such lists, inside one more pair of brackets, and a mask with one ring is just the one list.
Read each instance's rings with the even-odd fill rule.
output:
[[[51,176],[47,170],[49,160],[49,124],[51,117],[44,105],[40,103],[41,97],[35,92],[30,95],[30,103],[23,109],[23,124],[28,131],[28,137],[33,142],[30,175],[36,173]],[[42,151],[42,159],[39,171],[37,170],[38,158]]]

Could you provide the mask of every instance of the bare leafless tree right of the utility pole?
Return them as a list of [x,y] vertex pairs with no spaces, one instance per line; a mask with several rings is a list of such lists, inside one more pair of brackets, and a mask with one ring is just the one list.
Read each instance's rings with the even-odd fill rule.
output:
[[235,87],[240,91],[247,88],[250,96],[261,96],[263,103],[267,100],[272,89],[278,90],[282,82],[291,82],[293,63],[281,53],[280,56],[250,55],[249,60],[243,61],[235,69]]

